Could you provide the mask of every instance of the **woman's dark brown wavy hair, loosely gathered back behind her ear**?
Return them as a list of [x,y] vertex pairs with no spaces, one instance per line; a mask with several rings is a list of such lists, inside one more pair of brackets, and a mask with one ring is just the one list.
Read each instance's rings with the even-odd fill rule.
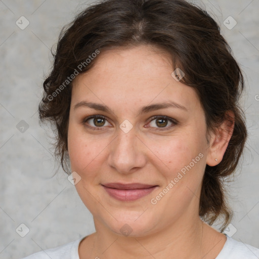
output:
[[227,111],[235,115],[234,132],[223,160],[216,166],[206,165],[199,205],[199,215],[209,225],[223,218],[223,231],[233,214],[224,180],[236,169],[247,138],[238,104],[244,81],[219,25],[200,7],[183,0],[107,0],[83,10],[63,27],[52,52],[53,68],[44,81],[45,92],[39,104],[40,122],[48,120],[54,126],[55,154],[69,174],[71,75],[91,69],[98,59],[93,58],[97,51],[140,44],[166,51],[174,67],[184,71],[181,82],[197,92],[208,135],[224,119],[233,120],[226,117]]

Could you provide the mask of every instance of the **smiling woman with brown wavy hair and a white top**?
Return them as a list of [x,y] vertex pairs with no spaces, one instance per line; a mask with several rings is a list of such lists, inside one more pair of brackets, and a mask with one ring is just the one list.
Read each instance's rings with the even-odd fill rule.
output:
[[57,127],[56,154],[96,232],[27,259],[258,258],[223,234],[223,180],[247,138],[243,76],[205,11],[103,1],[62,31],[54,57],[39,115]]

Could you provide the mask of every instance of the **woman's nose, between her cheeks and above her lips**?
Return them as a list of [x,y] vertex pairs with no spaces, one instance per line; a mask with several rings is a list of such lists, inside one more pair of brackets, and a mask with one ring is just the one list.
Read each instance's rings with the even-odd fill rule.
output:
[[118,136],[110,144],[108,164],[121,174],[130,174],[146,164],[145,145],[137,137],[134,128]]

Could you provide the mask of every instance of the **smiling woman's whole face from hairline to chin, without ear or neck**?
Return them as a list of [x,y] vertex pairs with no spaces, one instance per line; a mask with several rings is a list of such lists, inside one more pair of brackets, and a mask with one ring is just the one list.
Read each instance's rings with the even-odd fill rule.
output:
[[209,151],[204,112],[156,51],[101,52],[73,83],[68,152],[97,230],[141,236],[198,218]]

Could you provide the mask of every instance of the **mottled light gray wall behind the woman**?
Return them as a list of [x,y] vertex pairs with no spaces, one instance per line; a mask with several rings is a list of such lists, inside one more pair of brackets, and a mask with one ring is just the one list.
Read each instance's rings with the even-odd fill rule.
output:
[[[36,113],[44,73],[51,68],[50,49],[61,28],[90,3],[0,0],[0,258],[20,258],[95,231],[92,214],[67,175],[59,169],[53,177],[58,165],[52,132],[39,126]],[[235,211],[229,231],[235,227],[234,239],[259,247],[259,1],[203,0],[202,6],[221,25],[245,75],[249,139],[242,168],[228,187]],[[23,30],[16,25],[21,16],[29,21]],[[224,25],[229,16],[237,21],[231,30]],[[21,120],[29,126],[24,132]],[[29,228],[25,237],[16,232],[22,223]]]

